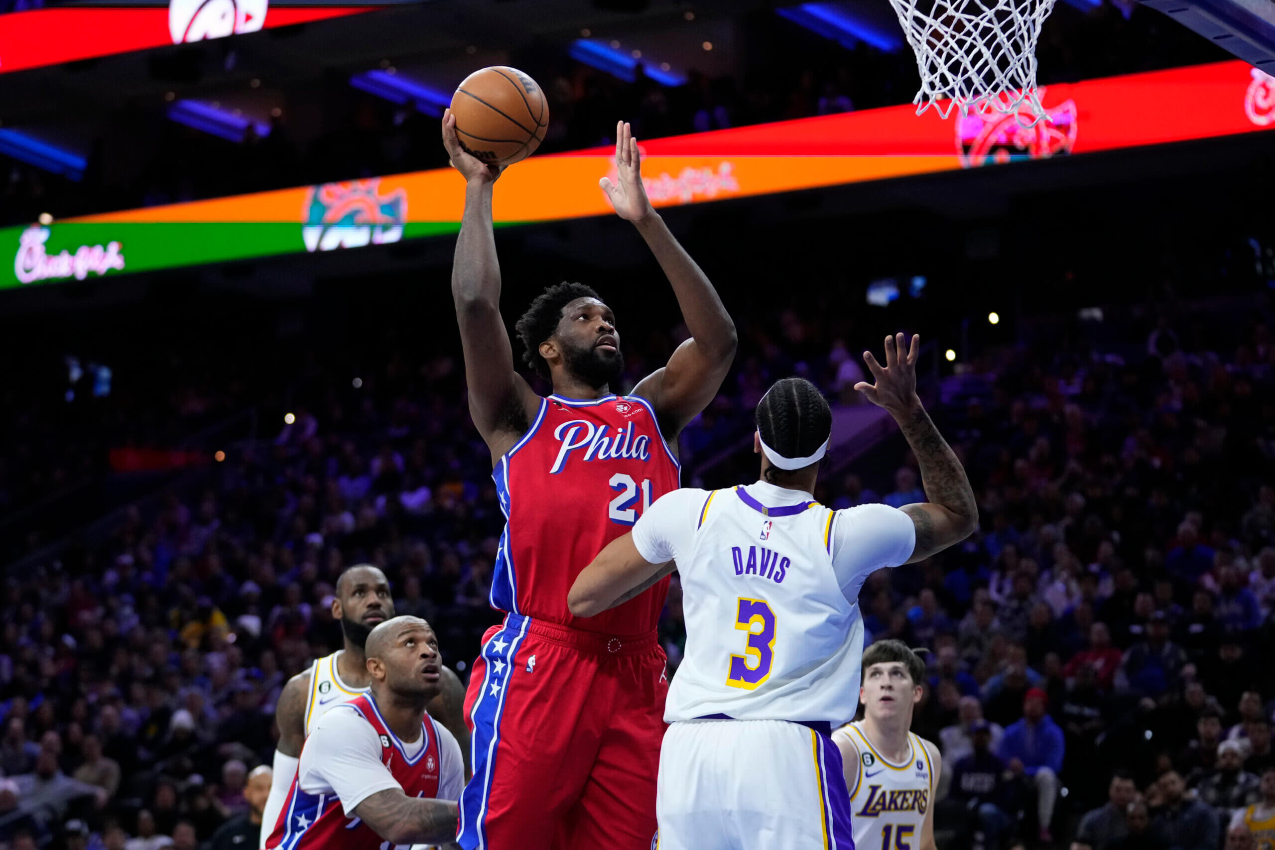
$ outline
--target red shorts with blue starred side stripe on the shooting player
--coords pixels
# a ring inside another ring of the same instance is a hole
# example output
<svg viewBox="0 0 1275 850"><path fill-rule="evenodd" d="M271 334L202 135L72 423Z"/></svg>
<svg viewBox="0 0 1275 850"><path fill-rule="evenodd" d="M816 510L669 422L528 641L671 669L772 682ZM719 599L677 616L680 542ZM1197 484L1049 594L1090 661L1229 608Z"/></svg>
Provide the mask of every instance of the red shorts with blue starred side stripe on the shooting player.
<svg viewBox="0 0 1275 850"><path fill-rule="evenodd" d="M668 693L655 633L611 637L509 614L465 693L464 850L649 850Z"/></svg>

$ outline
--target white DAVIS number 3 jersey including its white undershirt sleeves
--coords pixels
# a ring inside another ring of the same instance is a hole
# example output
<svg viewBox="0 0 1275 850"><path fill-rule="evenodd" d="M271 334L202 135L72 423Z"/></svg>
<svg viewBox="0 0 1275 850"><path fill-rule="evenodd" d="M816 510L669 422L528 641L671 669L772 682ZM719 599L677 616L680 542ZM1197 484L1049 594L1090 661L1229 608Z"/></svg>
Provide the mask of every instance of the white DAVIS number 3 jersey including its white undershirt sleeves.
<svg viewBox="0 0 1275 850"><path fill-rule="evenodd" d="M859 587L914 543L912 517L896 508L831 511L766 482L659 498L634 544L652 563L676 559L682 582L686 652L664 720L850 720Z"/></svg>

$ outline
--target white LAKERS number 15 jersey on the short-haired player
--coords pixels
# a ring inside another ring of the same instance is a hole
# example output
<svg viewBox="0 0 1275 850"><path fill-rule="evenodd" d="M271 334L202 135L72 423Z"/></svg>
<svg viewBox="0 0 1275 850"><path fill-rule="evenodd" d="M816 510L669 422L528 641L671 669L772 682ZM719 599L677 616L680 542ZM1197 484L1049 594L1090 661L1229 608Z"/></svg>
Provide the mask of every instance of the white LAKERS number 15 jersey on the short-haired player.
<svg viewBox="0 0 1275 850"><path fill-rule="evenodd" d="M856 850L915 846L936 781L924 743L909 731L908 758L896 765L872 747L863 721L833 731L834 742L843 737L859 751L859 779L850 795Z"/></svg>

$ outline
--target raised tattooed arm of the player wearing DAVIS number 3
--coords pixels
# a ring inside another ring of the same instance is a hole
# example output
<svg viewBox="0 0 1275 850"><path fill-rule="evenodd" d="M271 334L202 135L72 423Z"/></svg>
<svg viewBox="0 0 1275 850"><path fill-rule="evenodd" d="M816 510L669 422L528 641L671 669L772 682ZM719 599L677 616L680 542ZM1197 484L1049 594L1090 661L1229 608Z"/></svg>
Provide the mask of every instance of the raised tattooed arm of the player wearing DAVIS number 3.
<svg viewBox="0 0 1275 850"><path fill-rule="evenodd" d="M921 464L921 483L929 502L901 508L917 526L917 547L907 563L924 561L960 543L978 528L978 505L965 469L917 396L919 356L919 336L912 336L910 349L904 347L903 334L886 336L884 367L872 352L863 352L863 362L872 371L876 384L859 381L854 385L872 404L885 408L894 417Z"/></svg>

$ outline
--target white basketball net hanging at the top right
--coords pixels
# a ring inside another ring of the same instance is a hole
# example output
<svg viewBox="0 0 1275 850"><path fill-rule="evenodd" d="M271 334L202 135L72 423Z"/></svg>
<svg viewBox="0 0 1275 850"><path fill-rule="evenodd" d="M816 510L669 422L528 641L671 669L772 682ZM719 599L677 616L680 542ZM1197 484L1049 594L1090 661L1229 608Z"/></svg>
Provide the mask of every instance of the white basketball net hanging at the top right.
<svg viewBox="0 0 1275 850"><path fill-rule="evenodd" d="M1037 96L1037 41L1054 0L890 0L917 54L917 115L959 110L1048 120Z"/></svg>

